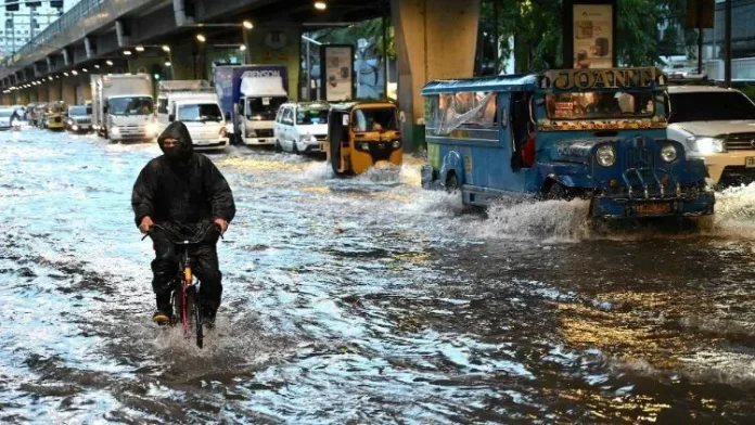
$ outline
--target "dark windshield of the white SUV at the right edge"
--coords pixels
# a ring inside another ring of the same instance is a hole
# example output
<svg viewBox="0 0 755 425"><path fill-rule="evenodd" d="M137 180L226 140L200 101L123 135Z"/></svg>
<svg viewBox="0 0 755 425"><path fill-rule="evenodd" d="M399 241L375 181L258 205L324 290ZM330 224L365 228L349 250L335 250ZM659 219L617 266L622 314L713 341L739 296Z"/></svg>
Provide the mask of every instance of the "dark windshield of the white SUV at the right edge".
<svg viewBox="0 0 755 425"><path fill-rule="evenodd" d="M755 119L755 104L738 91L673 93L669 123Z"/></svg>

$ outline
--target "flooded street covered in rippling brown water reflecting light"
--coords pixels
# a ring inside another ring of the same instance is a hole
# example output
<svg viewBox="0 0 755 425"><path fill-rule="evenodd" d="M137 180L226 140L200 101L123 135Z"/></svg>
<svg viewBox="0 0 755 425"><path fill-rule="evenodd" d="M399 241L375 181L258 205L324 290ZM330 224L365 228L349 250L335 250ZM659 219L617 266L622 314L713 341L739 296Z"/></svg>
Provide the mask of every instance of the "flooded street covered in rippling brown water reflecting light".
<svg viewBox="0 0 755 425"><path fill-rule="evenodd" d="M200 350L150 320L130 195L156 143L0 150L2 423L755 421L755 188L709 234L606 235L579 202L468 214L420 159L337 180L233 147Z"/></svg>

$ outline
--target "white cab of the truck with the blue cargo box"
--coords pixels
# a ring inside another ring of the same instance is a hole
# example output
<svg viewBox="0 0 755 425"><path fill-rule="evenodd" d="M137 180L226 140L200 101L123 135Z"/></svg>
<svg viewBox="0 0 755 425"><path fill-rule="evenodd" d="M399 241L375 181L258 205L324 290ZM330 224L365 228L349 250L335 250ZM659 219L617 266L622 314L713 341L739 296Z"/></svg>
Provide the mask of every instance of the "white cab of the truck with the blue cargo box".
<svg viewBox="0 0 755 425"><path fill-rule="evenodd" d="M280 76L247 72L241 78L241 96L235 105L234 128L246 145L273 145L278 108L289 101Z"/></svg>

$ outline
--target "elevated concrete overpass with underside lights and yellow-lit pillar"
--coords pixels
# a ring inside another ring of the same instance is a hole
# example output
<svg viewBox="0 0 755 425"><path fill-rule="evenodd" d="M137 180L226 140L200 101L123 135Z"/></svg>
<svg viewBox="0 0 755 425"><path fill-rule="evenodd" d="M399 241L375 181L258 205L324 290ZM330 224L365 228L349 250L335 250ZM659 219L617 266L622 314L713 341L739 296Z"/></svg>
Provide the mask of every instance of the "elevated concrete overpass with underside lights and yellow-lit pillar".
<svg viewBox="0 0 755 425"><path fill-rule="evenodd" d="M81 0L0 63L2 101L84 103L93 73L208 79L212 62L238 54L241 44L246 63L285 64L296 99L303 33L380 16L396 31L407 126L423 115L419 91L426 81L472 76L479 0L324 2L323 11L312 0ZM207 41L197 42L199 34Z"/></svg>

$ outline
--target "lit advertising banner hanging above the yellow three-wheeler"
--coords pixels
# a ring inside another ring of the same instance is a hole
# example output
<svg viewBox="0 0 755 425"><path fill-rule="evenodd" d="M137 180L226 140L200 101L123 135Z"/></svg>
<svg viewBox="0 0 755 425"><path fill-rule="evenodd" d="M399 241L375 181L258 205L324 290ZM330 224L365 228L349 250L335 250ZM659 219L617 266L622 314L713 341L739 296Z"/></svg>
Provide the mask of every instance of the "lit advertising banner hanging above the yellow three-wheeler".
<svg viewBox="0 0 755 425"><path fill-rule="evenodd" d="M354 47L322 47L322 90L328 102L344 102L354 99Z"/></svg>

